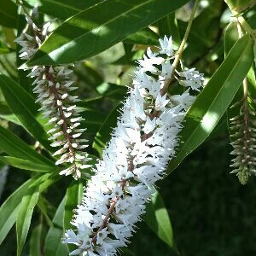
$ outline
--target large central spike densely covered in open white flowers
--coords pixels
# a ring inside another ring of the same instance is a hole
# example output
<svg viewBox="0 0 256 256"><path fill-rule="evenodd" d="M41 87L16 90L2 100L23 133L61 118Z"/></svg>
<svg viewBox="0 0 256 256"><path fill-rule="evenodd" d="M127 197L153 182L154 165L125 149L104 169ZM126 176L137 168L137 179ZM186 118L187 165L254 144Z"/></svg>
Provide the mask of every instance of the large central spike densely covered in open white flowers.
<svg viewBox="0 0 256 256"><path fill-rule="evenodd" d="M75 231L67 230L63 238L78 246L70 255L116 255L141 220L154 183L175 153L184 113L195 100L189 90L201 87L202 74L189 69L175 72L189 87L182 95L161 91L174 78L173 54L172 38L165 37L159 53L148 49L138 61L130 96L73 218Z"/></svg>

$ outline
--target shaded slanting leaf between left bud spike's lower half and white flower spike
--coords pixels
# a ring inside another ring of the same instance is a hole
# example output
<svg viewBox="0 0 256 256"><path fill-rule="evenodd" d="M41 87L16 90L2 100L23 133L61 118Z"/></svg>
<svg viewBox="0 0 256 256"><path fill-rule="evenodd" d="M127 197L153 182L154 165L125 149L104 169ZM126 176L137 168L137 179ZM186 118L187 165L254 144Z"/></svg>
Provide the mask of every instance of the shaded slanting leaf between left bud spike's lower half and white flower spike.
<svg viewBox="0 0 256 256"><path fill-rule="evenodd" d="M92 148L95 148L100 155L102 155L102 148L104 148L106 143L110 140L113 127L116 126L119 108L120 104L116 108L113 108L112 112L108 114L107 119L105 119L102 124L101 129L96 133Z"/></svg>

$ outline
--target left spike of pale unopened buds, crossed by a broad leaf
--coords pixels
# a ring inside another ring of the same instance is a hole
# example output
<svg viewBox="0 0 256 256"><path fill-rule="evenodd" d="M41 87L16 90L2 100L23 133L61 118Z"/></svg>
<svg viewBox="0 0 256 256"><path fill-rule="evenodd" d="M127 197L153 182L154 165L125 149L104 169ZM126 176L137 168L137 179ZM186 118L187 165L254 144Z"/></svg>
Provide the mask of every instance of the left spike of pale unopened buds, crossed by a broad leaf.
<svg viewBox="0 0 256 256"><path fill-rule="evenodd" d="M32 58L49 33L50 22L40 29L32 20L36 15L37 9L33 10L31 16L26 15L26 29L16 39L16 43L21 46L20 58L23 60ZM79 129L83 118L75 105L75 102L79 102L78 96L70 95L70 91L77 89L72 86L71 73L67 67L34 66L28 76L35 78L33 92L38 94L36 102L42 105L39 110L43 111L44 118L49 119L49 140L53 141L51 146L57 148L53 155L61 156L56 165L68 163L68 167L60 174L72 174L79 178L81 169L89 167L86 162L90 159L82 151L87 147L87 140L80 138L85 129Z"/></svg>

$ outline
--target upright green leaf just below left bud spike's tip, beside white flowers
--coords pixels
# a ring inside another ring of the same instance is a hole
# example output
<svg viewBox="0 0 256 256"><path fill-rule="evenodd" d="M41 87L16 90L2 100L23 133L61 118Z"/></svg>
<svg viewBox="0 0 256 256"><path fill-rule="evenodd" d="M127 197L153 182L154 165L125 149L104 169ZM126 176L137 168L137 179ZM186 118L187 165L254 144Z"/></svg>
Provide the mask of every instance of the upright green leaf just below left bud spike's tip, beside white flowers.
<svg viewBox="0 0 256 256"><path fill-rule="evenodd" d="M73 182L67 189L65 210L64 210L64 230L72 228L70 224L73 218L73 209L82 202L83 183L81 181Z"/></svg>

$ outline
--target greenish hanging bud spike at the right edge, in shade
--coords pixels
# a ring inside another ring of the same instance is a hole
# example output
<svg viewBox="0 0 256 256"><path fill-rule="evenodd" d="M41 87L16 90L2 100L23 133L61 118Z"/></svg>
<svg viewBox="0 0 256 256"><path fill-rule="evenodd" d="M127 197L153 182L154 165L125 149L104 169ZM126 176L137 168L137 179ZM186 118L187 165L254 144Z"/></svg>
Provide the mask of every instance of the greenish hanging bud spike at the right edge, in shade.
<svg viewBox="0 0 256 256"><path fill-rule="evenodd" d="M239 105L241 102L237 102ZM234 107L236 107L236 103ZM253 119L255 119L255 110L253 109L252 100L245 96L239 114L230 119L230 135L235 158L232 165L235 169L230 173L236 173L241 184L246 184L249 177L256 175L256 128Z"/></svg>

